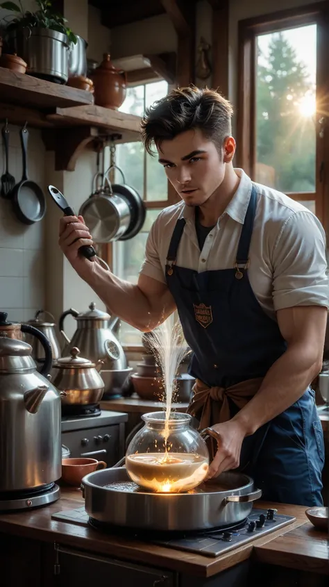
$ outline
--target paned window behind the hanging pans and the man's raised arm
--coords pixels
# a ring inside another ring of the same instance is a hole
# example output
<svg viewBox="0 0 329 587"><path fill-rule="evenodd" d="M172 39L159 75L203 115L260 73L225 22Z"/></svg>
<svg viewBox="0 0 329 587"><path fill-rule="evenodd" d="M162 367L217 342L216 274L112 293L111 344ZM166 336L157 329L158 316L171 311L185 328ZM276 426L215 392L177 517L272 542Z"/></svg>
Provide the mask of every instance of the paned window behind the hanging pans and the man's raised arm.
<svg viewBox="0 0 329 587"><path fill-rule="evenodd" d="M142 116L145 108L151 106L155 100L166 96L167 93L166 81L130 87L120 110ZM116 164L124 172L126 183L139 192L146 206L146 220L142 231L130 240L114 242L112 248L115 274L130 283L137 283L151 225L160 210L171 203L168 200L167 176L157 158L147 154L141 142L119 144ZM116 172L115 181L121 181L118 172ZM120 338L125 345L133 347L141 345L142 334L123 322Z"/></svg>

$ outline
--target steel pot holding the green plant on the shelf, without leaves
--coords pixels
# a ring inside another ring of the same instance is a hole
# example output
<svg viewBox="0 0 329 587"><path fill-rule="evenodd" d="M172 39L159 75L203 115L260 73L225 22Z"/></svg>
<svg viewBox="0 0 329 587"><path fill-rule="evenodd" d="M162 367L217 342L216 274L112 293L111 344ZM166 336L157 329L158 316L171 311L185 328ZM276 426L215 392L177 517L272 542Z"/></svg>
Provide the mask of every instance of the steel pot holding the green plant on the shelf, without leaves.
<svg viewBox="0 0 329 587"><path fill-rule="evenodd" d="M27 74L57 83L69 77L70 42L67 35L49 28L22 28L8 31L11 52L28 64Z"/></svg>

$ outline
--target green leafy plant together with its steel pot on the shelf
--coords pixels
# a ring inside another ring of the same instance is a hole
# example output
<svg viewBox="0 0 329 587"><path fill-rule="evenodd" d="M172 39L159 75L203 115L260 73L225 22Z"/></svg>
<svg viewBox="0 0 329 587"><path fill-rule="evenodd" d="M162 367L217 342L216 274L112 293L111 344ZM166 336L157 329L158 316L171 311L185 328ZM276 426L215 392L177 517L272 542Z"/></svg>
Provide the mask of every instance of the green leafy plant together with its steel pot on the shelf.
<svg viewBox="0 0 329 587"><path fill-rule="evenodd" d="M66 83L69 76L69 51L76 36L67 19L51 8L49 0L35 0L37 10L24 11L22 1L1 2L0 8L13 13L7 24L6 51L17 53L28 64L27 74Z"/></svg>

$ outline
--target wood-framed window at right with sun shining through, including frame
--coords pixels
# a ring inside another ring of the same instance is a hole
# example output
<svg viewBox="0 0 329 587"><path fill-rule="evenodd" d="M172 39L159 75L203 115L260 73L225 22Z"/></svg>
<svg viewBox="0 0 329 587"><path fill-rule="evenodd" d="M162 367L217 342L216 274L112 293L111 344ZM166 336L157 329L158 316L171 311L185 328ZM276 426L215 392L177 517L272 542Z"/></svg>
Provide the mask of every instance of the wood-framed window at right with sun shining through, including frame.
<svg viewBox="0 0 329 587"><path fill-rule="evenodd" d="M254 181L301 201L322 222L328 190L326 11L328 3L319 3L239 23L239 165Z"/></svg>

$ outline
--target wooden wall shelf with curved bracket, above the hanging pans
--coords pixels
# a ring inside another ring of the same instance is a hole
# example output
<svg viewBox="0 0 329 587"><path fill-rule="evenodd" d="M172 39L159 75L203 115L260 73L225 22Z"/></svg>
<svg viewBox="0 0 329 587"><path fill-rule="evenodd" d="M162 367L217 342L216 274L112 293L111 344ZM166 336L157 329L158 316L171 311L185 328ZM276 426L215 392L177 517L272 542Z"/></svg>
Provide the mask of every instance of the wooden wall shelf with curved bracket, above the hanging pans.
<svg viewBox="0 0 329 587"><path fill-rule="evenodd" d="M15 74L3 67L0 100L0 120L27 122L42 129L46 149L55 151L56 171L74 171L81 151L104 138L140 140L140 117L95 106L93 95L85 90Z"/></svg>

